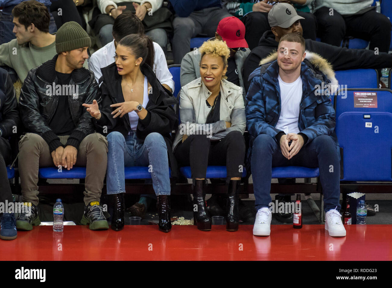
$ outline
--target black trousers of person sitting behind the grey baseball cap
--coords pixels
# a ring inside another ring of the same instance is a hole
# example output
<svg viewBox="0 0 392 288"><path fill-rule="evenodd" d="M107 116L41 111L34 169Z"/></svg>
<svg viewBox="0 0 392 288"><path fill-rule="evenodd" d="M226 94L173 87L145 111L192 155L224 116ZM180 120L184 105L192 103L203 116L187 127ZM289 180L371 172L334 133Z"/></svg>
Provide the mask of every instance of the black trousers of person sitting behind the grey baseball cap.
<svg viewBox="0 0 392 288"><path fill-rule="evenodd" d="M303 30L303 38L316 40L317 22L316 17L312 13L298 11L299 16L305 18L299 20ZM249 49L259 45L261 36L265 31L271 29L268 23L267 12L250 12L241 18L245 24L245 40L249 45Z"/></svg>

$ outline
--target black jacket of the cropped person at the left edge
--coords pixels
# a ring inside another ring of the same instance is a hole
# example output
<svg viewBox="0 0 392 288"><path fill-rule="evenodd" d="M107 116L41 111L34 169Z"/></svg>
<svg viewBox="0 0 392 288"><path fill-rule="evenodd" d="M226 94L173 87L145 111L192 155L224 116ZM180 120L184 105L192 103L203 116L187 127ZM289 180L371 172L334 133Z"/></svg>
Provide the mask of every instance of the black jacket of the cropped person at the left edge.
<svg viewBox="0 0 392 288"><path fill-rule="evenodd" d="M0 68L0 130L1 136L8 138L13 127L19 124L18 103L15 90L8 72Z"/></svg>

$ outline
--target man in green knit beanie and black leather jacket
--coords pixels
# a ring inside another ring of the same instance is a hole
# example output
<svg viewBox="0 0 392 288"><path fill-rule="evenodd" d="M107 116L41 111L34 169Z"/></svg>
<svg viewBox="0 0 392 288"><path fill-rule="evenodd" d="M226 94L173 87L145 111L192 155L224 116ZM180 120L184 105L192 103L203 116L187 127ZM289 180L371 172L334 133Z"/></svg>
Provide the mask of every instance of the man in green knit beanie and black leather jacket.
<svg viewBox="0 0 392 288"><path fill-rule="evenodd" d="M54 172L86 167L81 223L90 224L91 230L109 228L100 205L107 140L94 133L91 116L82 107L83 103L101 101L94 73L83 68L90 45L88 34L78 23L66 22L56 34L58 54L31 69L23 83L20 113L29 133L19 142L19 171L24 205L31 207L31 213L20 214L18 230L31 230L40 224L38 168L53 165ZM28 208L25 211L30 212Z"/></svg>

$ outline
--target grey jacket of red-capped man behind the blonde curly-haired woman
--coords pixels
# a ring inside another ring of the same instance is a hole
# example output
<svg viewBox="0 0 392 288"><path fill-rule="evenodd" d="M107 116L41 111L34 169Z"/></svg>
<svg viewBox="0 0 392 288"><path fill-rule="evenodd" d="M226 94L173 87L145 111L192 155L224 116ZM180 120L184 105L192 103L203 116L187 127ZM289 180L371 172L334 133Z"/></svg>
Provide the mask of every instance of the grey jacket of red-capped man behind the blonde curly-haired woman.
<svg viewBox="0 0 392 288"><path fill-rule="evenodd" d="M215 38L211 38L209 40L214 40ZM245 99L245 85L242 79L242 69L245 62L245 59L248 57L250 53L249 48L245 48L245 51L237 51L235 54L234 60L236 61L238 78L240 80L240 86L242 88L242 96ZM184 58L181 61L181 71L180 71L180 83L181 87L187 85L189 82L195 80L196 78L201 77L200 75L200 61L201 54L198 50L191 51L185 54Z"/></svg>

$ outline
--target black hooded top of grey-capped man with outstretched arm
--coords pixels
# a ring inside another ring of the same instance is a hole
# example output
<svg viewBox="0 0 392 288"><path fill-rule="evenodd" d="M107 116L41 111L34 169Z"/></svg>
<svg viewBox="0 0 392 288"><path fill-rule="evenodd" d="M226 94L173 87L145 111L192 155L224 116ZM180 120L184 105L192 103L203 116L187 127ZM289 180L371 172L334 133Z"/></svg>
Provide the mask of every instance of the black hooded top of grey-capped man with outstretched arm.
<svg viewBox="0 0 392 288"><path fill-rule="evenodd" d="M250 85L250 73L259 67L261 59L278 49L278 44L272 31L266 31L260 38L259 46L250 51L243 66L243 79L246 91L248 91ZM311 39L305 39L305 49L327 59L332 64L334 71L392 67L392 54L388 53L376 55L374 54L375 51L372 50L347 49Z"/></svg>

